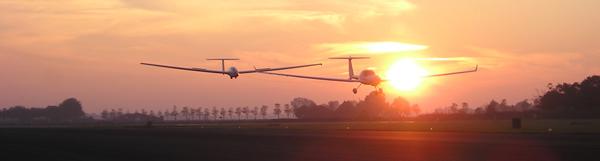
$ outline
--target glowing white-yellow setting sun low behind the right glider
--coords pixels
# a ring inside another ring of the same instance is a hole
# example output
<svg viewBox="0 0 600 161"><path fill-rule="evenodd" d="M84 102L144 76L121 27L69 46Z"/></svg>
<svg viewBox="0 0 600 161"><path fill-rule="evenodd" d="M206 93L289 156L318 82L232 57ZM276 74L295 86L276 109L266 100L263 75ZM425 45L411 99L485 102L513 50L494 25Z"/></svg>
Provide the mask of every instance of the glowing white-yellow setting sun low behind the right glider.
<svg viewBox="0 0 600 161"><path fill-rule="evenodd" d="M392 87L399 91L414 91L429 72L413 59L401 59L392 64L386 78Z"/></svg>

